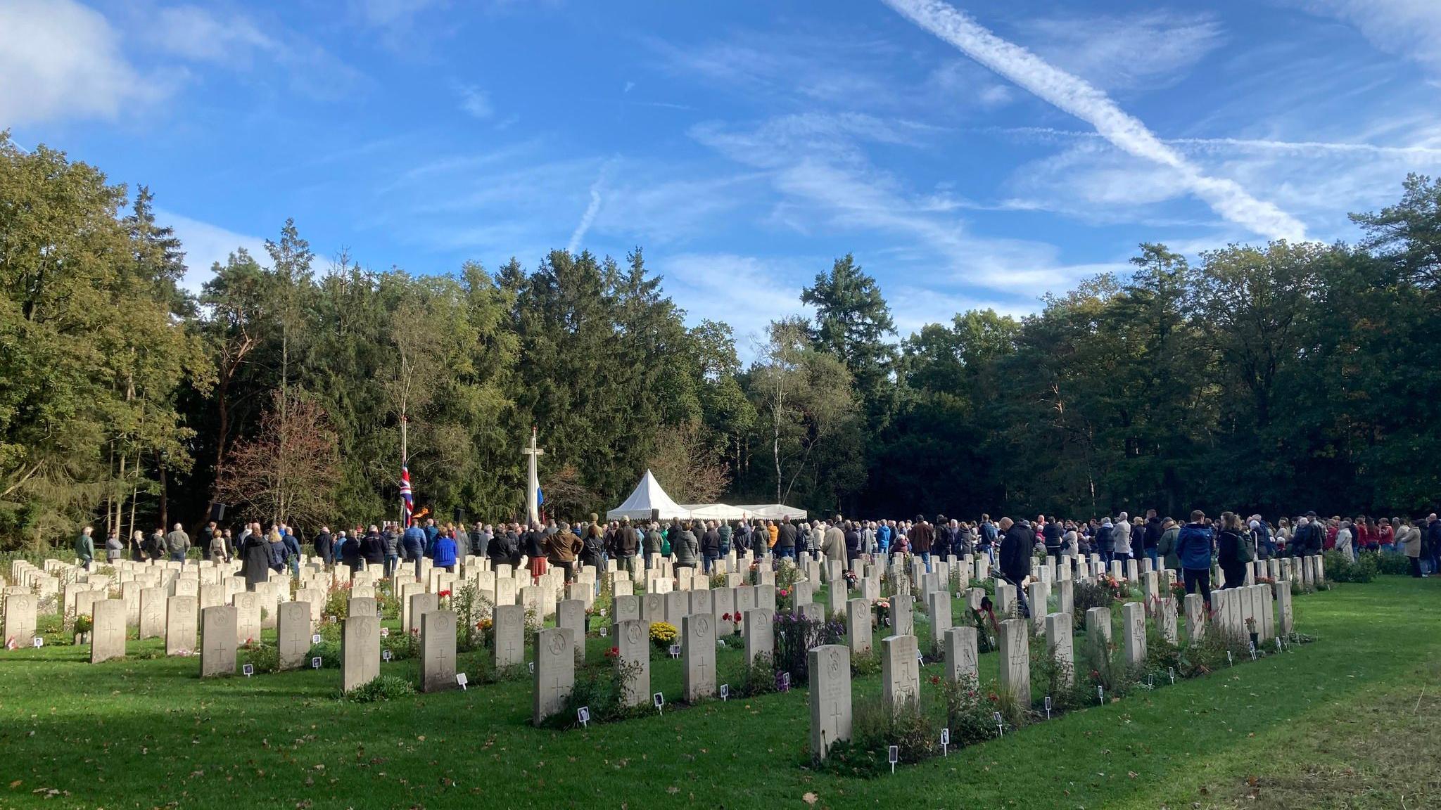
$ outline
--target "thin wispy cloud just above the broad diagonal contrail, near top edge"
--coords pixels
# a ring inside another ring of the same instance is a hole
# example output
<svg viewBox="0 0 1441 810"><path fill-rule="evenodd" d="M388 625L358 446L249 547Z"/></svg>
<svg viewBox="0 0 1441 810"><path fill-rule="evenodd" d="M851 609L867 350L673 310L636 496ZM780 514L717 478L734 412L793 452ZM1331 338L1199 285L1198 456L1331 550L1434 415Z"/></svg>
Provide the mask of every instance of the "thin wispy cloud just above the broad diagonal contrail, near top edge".
<svg viewBox="0 0 1441 810"><path fill-rule="evenodd" d="M1020 30L1050 63L1111 89L1167 84L1223 40L1213 17L1169 12L1042 17Z"/></svg>

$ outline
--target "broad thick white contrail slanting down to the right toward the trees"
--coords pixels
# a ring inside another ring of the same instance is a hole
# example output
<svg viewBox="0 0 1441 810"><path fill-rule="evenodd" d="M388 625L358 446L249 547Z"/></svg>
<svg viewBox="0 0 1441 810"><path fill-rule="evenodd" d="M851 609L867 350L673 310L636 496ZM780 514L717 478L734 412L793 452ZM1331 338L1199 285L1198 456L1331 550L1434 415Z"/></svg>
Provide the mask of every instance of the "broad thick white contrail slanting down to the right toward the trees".
<svg viewBox="0 0 1441 810"><path fill-rule="evenodd" d="M1202 173L1200 167L1166 146L1146 128L1146 124L1127 114L1085 79L1072 76L1030 50L996 36L941 0L883 1L986 68L1087 121L1117 148L1174 169L1192 193L1223 219L1268 239L1306 239L1306 226L1300 221L1272 203L1252 197L1235 180Z"/></svg>

